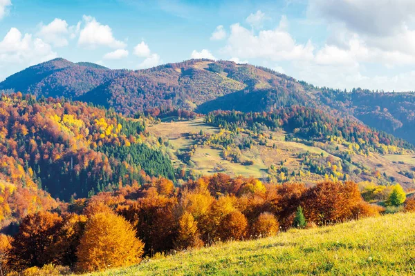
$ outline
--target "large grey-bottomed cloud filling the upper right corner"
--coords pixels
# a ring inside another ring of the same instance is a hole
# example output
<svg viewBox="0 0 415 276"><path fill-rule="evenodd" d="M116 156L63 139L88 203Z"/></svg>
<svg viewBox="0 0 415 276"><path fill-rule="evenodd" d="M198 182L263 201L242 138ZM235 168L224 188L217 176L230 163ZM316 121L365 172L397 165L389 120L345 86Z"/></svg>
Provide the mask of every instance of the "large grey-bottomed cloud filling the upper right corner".
<svg viewBox="0 0 415 276"><path fill-rule="evenodd" d="M341 59L340 63L412 63L414 14L412 0L311 0L308 7L308 16L329 23L329 37L321 55L317 55L319 61L331 56Z"/></svg>

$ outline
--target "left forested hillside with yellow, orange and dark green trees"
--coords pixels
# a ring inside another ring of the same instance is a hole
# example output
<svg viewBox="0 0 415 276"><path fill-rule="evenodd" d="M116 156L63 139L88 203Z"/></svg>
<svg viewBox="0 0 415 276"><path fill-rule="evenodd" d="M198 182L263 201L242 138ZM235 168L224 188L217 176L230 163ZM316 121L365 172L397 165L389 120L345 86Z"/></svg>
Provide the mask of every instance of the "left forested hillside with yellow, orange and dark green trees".
<svg viewBox="0 0 415 276"><path fill-rule="evenodd" d="M146 141L144 121L60 99L20 93L0 99L0 155L5 181L53 197L86 197L134 182L142 172L174 179L167 155ZM0 178L1 179L1 178ZM30 181L30 182L29 182Z"/></svg>

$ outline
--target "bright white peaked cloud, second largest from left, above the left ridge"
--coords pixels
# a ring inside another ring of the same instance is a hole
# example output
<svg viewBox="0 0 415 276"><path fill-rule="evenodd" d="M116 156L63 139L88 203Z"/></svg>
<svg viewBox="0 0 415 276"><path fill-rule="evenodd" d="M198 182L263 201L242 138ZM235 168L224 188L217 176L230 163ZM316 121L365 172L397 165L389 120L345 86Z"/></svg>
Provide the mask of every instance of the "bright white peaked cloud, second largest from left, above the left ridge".
<svg viewBox="0 0 415 276"><path fill-rule="evenodd" d="M113 32L108 25L102 25L94 17L87 17L86 15L84 15L83 20L85 26L80 30L78 45L89 48L108 46L110 48L122 49L127 47L126 43L113 37Z"/></svg>

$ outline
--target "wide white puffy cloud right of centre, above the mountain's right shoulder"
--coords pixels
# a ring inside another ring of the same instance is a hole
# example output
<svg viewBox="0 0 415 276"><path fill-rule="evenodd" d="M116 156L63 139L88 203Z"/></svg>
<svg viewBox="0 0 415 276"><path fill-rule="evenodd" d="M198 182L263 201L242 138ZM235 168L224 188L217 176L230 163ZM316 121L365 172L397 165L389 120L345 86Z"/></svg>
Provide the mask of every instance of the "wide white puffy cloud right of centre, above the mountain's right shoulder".
<svg viewBox="0 0 415 276"><path fill-rule="evenodd" d="M299 44L282 28L261 30L259 34L242 27L239 23L230 26L228 43L222 52L242 59L264 58L273 61L313 59L314 46L311 41Z"/></svg>

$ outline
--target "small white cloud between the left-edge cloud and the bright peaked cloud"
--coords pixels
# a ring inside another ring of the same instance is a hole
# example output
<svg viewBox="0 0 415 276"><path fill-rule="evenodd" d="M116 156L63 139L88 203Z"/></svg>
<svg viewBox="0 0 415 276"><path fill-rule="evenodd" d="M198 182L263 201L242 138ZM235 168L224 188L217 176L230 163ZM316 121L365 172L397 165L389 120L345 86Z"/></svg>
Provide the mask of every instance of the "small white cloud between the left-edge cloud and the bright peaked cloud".
<svg viewBox="0 0 415 276"><path fill-rule="evenodd" d="M43 41L53 44L56 47L63 47L68 45L66 36L69 34L68 23L65 20L55 18L48 25L40 23L40 30L37 33Z"/></svg>

